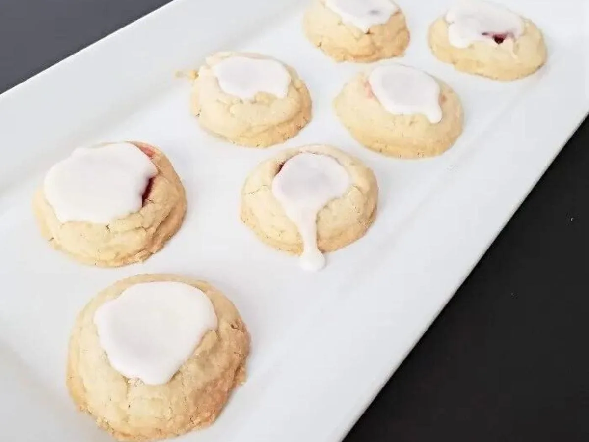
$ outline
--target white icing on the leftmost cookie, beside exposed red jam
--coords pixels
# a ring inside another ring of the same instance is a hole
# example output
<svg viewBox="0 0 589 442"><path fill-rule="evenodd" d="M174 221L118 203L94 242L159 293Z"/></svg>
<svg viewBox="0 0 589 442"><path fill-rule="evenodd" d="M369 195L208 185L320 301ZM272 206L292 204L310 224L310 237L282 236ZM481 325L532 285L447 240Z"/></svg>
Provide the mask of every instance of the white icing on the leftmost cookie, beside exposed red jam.
<svg viewBox="0 0 589 442"><path fill-rule="evenodd" d="M45 176L44 194L60 222L108 224L137 212L157 169L130 143L81 148Z"/></svg>

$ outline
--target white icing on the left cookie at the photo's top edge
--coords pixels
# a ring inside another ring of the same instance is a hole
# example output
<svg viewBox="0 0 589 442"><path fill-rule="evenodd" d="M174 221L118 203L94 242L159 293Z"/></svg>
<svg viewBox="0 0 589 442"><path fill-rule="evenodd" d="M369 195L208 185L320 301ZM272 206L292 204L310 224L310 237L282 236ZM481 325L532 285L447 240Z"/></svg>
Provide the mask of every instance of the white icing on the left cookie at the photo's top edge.
<svg viewBox="0 0 589 442"><path fill-rule="evenodd" d="M345 24L353 25L365 34L371 27L388 22L399 11L390 0L326 0L325 5Z"/></svg>

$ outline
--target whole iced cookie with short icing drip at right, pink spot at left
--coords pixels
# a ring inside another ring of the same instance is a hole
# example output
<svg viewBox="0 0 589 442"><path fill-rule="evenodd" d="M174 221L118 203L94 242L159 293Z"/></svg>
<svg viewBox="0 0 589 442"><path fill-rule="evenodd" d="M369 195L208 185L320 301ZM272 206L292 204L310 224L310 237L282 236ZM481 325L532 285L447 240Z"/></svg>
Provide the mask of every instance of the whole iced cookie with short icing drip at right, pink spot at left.
<svg viewBox="0 0 589 442"><path fill-rule="evenodd" d="M333 104L359 143L393 157L442 154L462 133L458 95L444 82L403 65L360 72Z"/></svg>

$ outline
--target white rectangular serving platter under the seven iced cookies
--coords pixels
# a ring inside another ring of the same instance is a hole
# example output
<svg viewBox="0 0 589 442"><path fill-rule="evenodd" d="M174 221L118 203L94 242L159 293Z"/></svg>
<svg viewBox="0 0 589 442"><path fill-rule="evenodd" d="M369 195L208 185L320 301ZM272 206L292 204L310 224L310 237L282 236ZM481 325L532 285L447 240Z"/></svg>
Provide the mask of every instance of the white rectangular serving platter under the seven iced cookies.
<svg viewBox="0 0 589 442"><path fill-rule="evenodd" d="M401 61L461 97L464 135L436 159L380 156L332 112L365 65L335 64L303 37L294 0L176 0L0 96L0 403L5 440L108 441L65 390L75 315L136 273L206 279L231 298L252 335L249 377L216 424L191 442L341 440L497 236L589 110L583 0L503 0L544 31L550 60L522 81L455 72L426 44L446 1L398 0L412 42ZM327 143L360 157L380 186L368 235L305 273L296 258L241 225L241 184L284 146L253 150L203 133L187 80L217 50L262 52L292 65L313 120L286 146ZM42 173L75 147L142 140L160 147L187 189L180 232L147 262L78 265L41 239L31 212Z"/></svg>

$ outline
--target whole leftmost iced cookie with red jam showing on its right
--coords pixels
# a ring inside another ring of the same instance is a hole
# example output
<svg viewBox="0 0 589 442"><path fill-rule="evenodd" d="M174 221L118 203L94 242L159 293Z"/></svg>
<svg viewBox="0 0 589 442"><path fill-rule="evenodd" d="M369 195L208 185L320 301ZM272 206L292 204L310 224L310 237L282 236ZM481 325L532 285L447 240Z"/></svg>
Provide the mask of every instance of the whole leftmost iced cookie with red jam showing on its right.
<svg viewBox="0 0 589 442"><path fill-rule="evenodd" d="M33 208L55 249L84 264L117 267L163 248L180 229L186 196L160 150L110 143L75 150L52 167Z"/></svg>

